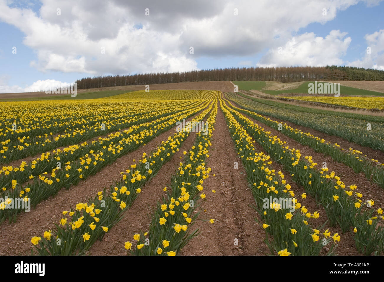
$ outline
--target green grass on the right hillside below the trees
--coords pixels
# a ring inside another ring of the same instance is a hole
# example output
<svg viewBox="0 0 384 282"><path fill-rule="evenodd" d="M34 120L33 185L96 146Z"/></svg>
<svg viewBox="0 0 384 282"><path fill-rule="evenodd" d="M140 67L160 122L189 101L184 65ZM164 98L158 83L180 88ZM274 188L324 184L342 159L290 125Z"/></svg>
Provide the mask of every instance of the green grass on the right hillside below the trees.
<svg viewBox="0 0 384 282"><path fill-rule="evenodd" d="M232 81L234 84L238 85L240 90L250 90L255 89L263 93L270 95L280 95L284 93L304 93L308 94L308 84L314 83L314 81L305 81L299 87L295 89L286 89L286 90L263 90L263 87L266 86L265 81ZM340 86L340 96L382 96L384 93L369 91L364 89L358 89L348 86Z"/></svg>

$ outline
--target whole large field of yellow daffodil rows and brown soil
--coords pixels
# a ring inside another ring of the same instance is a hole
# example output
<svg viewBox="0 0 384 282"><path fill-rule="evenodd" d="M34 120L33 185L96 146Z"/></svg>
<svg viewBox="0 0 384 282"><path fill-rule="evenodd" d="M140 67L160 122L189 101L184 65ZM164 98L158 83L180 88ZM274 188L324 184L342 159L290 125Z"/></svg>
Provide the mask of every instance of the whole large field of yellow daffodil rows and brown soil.
<svg viewBox="0 0 384 282"><path fill-rule="evenodd" d="M1 102L0 255L384 254L384 117L194 83Z"/></svg>

